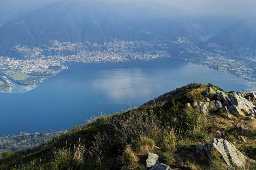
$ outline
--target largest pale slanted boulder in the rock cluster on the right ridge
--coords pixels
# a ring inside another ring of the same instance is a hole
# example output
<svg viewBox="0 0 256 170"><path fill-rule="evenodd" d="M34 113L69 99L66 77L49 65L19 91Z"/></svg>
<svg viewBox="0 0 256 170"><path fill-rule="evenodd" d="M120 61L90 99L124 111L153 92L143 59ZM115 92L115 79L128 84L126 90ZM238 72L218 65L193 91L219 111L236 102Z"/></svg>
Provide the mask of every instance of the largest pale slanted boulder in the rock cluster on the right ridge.
<svg viewBox="0 0 256 170"><path fill-rule="evenodd" d="M253 105L250 101L246 100L244 97L241 97L236 94L236 92L232 92L228 94L230 99L230 104L237 106L240 110L244 109L246 112L250 113L255 105ZM251 110L251 111L250 111Z"/></svg>

